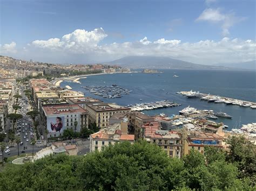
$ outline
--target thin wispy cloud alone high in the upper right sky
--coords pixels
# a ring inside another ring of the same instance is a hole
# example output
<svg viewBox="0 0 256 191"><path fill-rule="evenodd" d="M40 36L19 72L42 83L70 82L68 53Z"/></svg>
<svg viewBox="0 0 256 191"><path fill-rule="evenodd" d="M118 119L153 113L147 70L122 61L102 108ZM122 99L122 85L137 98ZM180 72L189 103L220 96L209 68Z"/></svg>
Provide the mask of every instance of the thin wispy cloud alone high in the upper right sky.
<svg viewBox="0 0 256 191"><path fill-rule="evenodd" d="M230 27L232 27L236 23L241 22L244 19L244 17L236 17L233 12L221 13L221 10L219 8L208 8L201 13L201 15L196 19L196 21L220 23L223 36L228 36L228 34L230 34Z"/></svg>

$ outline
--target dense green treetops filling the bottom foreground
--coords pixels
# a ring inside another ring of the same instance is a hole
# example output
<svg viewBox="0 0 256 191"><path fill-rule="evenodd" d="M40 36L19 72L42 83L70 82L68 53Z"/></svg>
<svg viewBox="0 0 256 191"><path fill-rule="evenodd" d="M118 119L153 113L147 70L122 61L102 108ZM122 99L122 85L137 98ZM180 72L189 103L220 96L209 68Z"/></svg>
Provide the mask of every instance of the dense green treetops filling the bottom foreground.
<svg viewBox="0 0 256 191"><path fill-rule="evenodd" d="M146 142L110 145L86 156L50 155L0 174L0 190L253 190L225 153L206 148L182 160ZM212 153L212 155L210 154Z"/></svg>

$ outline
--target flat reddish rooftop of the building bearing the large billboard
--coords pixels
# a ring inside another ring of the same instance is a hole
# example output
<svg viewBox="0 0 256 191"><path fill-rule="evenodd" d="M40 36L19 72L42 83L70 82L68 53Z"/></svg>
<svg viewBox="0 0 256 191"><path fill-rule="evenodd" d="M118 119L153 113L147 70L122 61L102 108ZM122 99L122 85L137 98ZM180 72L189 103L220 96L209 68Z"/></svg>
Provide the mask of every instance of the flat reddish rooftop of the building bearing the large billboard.
<svg viewBox="0 0 256 191"><path fill-rule="evenodd" d="M72 114L72 113L87 113L85 109L77 104L66 104L66 105L50 105L43 106L43 111L46 116L53 114Z"/></svg>

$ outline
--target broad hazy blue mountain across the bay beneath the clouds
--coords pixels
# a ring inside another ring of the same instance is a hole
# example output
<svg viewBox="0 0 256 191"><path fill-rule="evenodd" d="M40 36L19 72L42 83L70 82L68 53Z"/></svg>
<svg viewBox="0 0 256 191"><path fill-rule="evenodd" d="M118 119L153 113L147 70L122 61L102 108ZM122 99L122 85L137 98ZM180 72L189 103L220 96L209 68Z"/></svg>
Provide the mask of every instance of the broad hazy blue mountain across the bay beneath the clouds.
<svg viewBox="0 0 256 191"><path fill-rule="evenodd" d="M105 62L104 64L119 65L129 68L225 69L225 67L221 66L199 65L197 63L172 59L165 56L126 56L118 60Z"/></svg>

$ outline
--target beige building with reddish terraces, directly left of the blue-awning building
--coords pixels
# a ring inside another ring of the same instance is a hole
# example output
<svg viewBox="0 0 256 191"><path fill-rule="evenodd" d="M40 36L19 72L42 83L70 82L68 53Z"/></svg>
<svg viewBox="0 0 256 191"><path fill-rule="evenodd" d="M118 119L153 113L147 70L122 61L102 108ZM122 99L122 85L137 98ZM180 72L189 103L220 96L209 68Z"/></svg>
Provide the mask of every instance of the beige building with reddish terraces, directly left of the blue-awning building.
<svg viewBox="0 0 256 191"><path fill-rule="evenodd" d="M157 144L169 157L180 158L181 136L176 131L160 130L159 122L150 122L142 126L143 138L150 143Z"/></svg>

